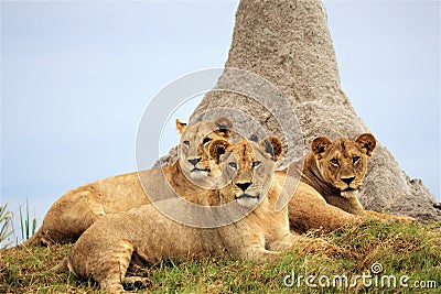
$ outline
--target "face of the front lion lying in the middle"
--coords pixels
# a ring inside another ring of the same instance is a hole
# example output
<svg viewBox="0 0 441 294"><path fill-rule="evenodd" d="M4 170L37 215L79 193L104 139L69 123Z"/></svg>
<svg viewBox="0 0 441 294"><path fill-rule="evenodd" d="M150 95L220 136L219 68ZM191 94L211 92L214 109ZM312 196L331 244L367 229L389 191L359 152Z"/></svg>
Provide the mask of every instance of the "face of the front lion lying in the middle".
<svg viewBox="0 0 441 294"><path fill-rule="evenodd" d="M260 143L241 140L230 144L216 140L209 152L220 166L227 185L222 188L224 203L236 200L245 207L254 207L266 196L273 176L276 161L282 151L282 143L269 137Z"/></svg>

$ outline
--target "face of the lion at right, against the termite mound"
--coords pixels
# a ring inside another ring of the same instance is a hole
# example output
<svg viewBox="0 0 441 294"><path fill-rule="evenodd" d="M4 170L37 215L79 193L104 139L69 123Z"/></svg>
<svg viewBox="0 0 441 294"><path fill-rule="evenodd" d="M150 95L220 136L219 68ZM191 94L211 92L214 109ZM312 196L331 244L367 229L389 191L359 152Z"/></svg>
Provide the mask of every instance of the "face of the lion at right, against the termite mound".
<svg viewBox="0 0 441 294"><path fill-rule="evenodd" d="M369 133L361 134L355 140L338 139L333 142L320 137L311 143L323 179L338 188L344 197L358 190L375 146L376 140Z"/></svg>

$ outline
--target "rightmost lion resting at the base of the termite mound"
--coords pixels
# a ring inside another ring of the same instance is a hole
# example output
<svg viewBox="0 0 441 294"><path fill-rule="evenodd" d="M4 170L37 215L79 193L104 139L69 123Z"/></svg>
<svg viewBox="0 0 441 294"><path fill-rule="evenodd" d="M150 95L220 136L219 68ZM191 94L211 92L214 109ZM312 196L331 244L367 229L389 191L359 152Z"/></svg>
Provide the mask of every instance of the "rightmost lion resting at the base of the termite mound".
<svg viewBox="0 0 441 294"><path fill-rule="evenodd" d="M359 134L355 140L331 141L320 137L312 141L312 152L303 159L300 183L289 203L289 219L293 230L335 230L366 218L402 222L413 220L365 210L358 200L358 189L376 144L370 133ZM290 168L295 173L298 163Z"/></svg>

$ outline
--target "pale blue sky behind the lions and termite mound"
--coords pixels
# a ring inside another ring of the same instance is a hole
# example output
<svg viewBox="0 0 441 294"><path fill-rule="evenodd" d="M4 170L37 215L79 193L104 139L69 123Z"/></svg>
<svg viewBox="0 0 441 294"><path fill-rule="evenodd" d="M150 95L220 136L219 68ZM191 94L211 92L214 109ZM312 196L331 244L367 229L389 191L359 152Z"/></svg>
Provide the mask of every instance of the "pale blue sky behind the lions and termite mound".
<svg viewBox="0 0 441 294"><path fill-rule="evenodd" d="M17 211L28 197L41 222L65 192L135 171L150 99L182 75L224 65L237 3L2 1L1 203ZM440 199L440 2L325 8L343 89ZM173 130L165 137L178 142Z"/></svg>

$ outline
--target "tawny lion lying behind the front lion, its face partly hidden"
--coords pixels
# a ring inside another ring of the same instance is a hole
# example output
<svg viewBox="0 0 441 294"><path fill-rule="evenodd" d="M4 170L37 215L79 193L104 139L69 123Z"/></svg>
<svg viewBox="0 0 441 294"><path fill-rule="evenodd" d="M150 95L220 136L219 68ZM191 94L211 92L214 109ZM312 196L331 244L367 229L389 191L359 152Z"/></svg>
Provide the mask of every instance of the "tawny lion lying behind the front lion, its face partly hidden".
<svg viewBox="0 0 441 294"><path fill-rule="evenodd" d="M208 156L208 143L216 139L227 139L232 127L233 123L227 118L192 126L176 120L176 129L181 135L179 161L162 170L152 168L117 175L67 192L52 205L40 229L22 246L74 242L104 215L149 204L150 199L144 193L143 184L155 183L160 177L159 174L166 174L172 185L185 183L190 186L200 184L204 176L216 176L219 170ZM185 177L183 174L195 183L182 179ZM143 183L140 182L140 176ZM157 185L169 185L169 183L157 183Z"/></svg>

